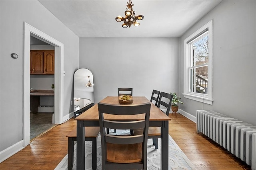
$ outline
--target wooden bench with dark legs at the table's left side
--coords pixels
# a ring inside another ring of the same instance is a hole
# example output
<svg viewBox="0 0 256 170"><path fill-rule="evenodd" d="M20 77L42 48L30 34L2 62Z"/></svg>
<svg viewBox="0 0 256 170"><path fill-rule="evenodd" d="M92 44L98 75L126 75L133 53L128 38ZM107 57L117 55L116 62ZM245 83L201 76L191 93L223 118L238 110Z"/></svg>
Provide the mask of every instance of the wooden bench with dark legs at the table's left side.
<svg viewBox="0 0 256 170"><path fill-rule="evenodd" d="M100 127L85 127L85 141L92 141L92 169L97 169L97 138L100 134ZM76 128L68 135L68 170L73 168L74 164L74 141L76 141Z"/></svg>

